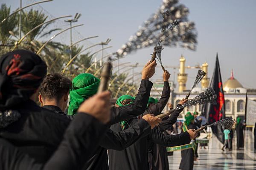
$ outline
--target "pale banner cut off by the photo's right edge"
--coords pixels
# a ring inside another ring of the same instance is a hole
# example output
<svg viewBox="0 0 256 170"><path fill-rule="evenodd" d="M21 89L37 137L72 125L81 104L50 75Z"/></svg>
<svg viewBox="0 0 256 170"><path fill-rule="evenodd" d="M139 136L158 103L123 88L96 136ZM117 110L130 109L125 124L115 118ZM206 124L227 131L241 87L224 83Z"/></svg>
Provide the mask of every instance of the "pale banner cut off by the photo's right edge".
<svg viewBox="0 0 256 170"><path fill-rule="evenodd" d="M247 99L246 108L246 125L255 125L256 122L256 102L254 100Z"/></svg>

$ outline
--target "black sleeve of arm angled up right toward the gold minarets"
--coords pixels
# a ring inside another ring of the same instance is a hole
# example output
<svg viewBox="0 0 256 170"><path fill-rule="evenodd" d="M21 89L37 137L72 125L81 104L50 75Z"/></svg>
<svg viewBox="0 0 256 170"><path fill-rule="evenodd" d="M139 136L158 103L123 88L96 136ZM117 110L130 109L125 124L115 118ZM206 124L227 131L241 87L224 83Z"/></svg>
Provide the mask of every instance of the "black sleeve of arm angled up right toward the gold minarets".
<svg viewBox="0 0 256 170"><path fill-rule="evenodd" d="M181 106L180 104L177 105L177 107ZM166 129L168 129L169 127L171 127L172 125L175 124L175 122L177 122L177 118L180 115L180 112L183 111L182 109L179 109L175 112L173 112L169 117L167 117L167 120L163 120L160 124L159 124L159 130L161 132L165 131Z"/></svg>

